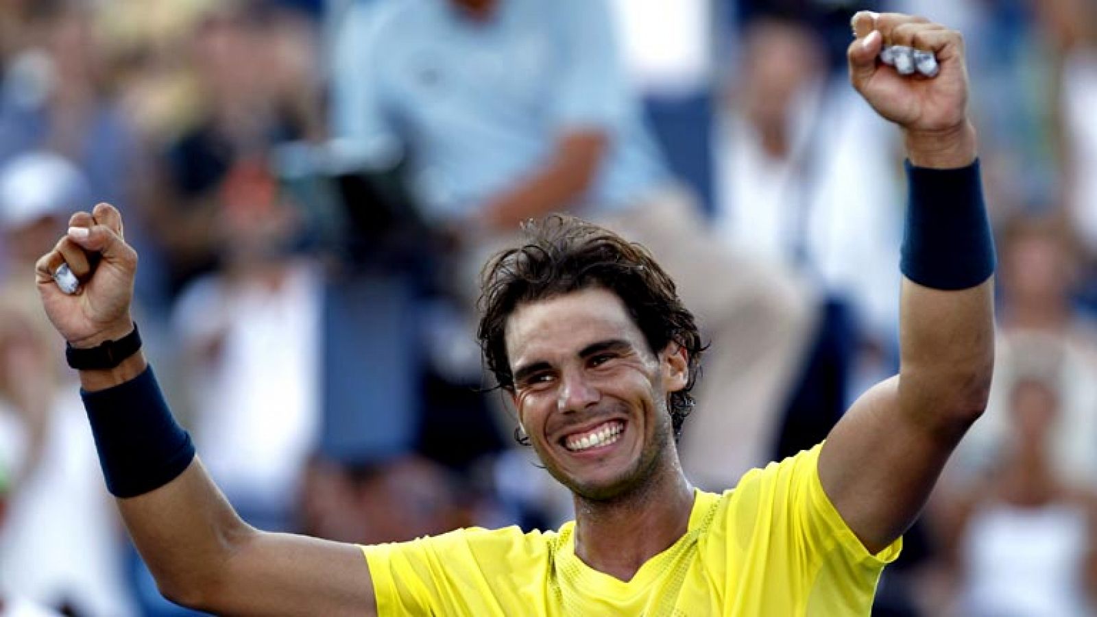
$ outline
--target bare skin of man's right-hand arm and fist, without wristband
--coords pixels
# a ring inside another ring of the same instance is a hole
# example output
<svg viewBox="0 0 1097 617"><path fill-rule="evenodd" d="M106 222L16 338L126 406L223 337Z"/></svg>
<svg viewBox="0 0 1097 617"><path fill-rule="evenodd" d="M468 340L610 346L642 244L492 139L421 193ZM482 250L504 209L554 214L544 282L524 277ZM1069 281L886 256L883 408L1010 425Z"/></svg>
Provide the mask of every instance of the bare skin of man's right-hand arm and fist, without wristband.
<svg viewBox="0 0 1097 617"><path fill-rule="evenodd" d="M904 132L917 167L953 169L975 160L966 115L968 77L959 33L884 13L855 18L850 79ZM934 50L935 79L906 79L877 62L882 45ZM864 547L877 552L920 513L945 462L982 414L994 363L993 278L957 292L903 279L900 373L866 392L819 455L823 489Z"/></svg>

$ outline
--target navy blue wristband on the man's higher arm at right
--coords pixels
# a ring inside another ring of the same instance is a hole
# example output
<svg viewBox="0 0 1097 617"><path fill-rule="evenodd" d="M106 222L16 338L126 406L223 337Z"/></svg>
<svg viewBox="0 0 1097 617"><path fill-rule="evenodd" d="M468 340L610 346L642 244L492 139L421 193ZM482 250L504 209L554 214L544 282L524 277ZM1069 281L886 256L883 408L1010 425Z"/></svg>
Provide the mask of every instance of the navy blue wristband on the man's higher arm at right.
<svg viewBox="0 0 1097 617"><path fill-rule="evenodd" d="M906 162L909 194L901 270L935 289L968 289L994 274L994 235L976 160L959 169Z"/></svg>

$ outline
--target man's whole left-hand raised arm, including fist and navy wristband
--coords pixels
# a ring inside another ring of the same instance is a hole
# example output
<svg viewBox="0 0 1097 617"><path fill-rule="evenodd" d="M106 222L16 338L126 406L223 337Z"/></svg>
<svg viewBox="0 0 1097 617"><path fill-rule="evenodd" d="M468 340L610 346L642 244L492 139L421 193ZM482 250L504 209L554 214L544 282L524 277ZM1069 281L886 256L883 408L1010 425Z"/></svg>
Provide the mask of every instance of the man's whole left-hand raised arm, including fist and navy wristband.
<svg viewBox="0 0 1097 617"><path fill-rule="evenodd" d="M109 205L77 213L69 225L36 267L43 306L73 347L117 341L133 330L137 254ZM53 281L63 262L83 282L76 295ZM81 370L80 381L108 485L160 592L217 615L375 614L358 547L268 534L237 516L148 370L137 351L113 368Z"/></svg>

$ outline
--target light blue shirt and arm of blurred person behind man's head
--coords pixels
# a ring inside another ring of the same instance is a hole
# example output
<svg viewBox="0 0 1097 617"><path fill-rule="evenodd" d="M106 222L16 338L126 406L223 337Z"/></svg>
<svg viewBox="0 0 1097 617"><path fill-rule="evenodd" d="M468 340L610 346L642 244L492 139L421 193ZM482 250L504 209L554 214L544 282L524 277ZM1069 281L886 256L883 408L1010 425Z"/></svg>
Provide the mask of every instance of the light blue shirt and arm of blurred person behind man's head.
<svg viewBox="0 0 1097 617"><path fill-rule="evenodd" d="M671 183L601 1L381 0L344 28L336 133L406 148L430 218L506 228Z"/></svg>

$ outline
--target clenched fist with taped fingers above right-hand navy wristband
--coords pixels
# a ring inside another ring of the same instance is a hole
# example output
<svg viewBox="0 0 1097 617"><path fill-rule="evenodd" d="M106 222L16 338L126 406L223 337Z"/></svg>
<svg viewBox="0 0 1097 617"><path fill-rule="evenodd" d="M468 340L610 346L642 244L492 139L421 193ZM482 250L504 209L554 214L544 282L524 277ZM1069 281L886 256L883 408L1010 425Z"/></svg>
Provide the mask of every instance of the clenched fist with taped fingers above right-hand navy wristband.
<svg viewBox="0 0 1097 617"><path fill-rule="evenodd" d="M975 159L968 117L968 69L959 32L921 18L861 11L853 16L849 79L872 108L904 130L911 161L920 167L962 167ZM879 59L885 45L937 56L932 78L902 76Z"/></svg>

